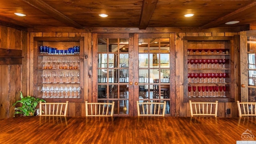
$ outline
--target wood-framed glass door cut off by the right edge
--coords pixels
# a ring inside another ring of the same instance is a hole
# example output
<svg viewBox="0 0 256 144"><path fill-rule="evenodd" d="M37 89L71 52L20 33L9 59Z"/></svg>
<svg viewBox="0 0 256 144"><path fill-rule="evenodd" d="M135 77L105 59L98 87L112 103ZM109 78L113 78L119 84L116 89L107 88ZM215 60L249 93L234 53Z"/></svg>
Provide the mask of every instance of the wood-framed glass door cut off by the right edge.
<svg viewBox="0 0 256 144"><path fill-rule="evenodd" d="M256 102L256 30L240 32L241 100Z"/></svg>

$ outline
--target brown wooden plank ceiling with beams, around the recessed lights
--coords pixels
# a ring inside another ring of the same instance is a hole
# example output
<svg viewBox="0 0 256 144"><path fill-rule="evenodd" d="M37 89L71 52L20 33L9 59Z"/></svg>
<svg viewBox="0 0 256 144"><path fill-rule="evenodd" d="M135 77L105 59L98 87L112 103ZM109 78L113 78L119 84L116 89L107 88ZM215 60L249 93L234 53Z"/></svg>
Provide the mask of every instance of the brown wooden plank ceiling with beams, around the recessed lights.
<svg viewBox="0 0 256 144"><path fill-rule="evenodd" d="M255 0L0 0L0 24L22 28L216 28L256 23ZM14 12L27 16L19 17ZM98 16L106 13L107 18ZM184 14L194 13L190 18Z"/></svg>

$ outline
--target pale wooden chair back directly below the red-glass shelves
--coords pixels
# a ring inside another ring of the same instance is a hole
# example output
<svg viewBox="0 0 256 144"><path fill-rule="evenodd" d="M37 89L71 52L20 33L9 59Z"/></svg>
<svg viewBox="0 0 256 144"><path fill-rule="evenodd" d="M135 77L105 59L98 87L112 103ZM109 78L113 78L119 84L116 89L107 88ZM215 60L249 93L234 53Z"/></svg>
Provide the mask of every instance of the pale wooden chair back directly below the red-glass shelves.
<svg viewBox="0 0 256 144"><path fill-rule="evenodd" d="M218 101L213 102L192 102L189 101L190 114L193 116L214 116L218 114ZM193 108L194 105L194 108ZM215 106L215 108L214 108Z"/></svg>

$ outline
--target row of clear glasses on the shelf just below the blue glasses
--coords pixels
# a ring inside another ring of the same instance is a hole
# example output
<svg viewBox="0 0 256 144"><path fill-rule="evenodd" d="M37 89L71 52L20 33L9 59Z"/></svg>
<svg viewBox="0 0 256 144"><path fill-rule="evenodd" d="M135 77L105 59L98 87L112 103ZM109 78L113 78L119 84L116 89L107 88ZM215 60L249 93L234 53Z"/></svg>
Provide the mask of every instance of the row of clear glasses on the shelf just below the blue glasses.
<svg viewBox="0 0 256 144"><path fill-rule="evenodd" d="M40 62L42 69L80 69L80 58L48 57Z"/></svg>

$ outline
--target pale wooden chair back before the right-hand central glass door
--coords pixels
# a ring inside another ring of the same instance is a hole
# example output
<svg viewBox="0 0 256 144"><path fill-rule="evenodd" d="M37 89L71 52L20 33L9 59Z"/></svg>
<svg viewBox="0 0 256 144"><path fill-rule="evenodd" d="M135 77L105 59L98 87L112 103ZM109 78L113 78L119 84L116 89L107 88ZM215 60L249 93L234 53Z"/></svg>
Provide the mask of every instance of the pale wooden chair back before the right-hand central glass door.
<svg viewBox="0 0 256 144"><path fill-rule="evenodd" d="M166 101L158 102L139 102L137 101L138 116L164 116Z"/></svg>

